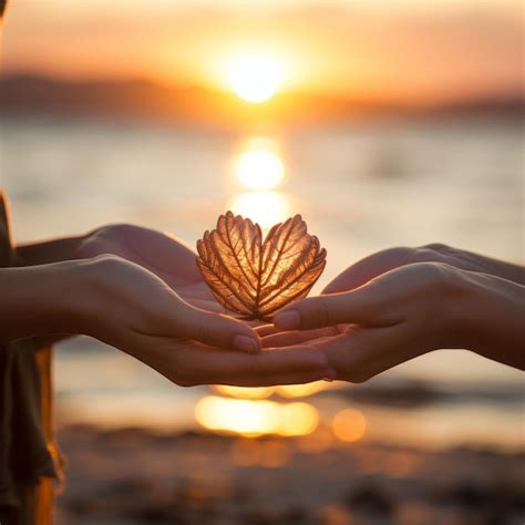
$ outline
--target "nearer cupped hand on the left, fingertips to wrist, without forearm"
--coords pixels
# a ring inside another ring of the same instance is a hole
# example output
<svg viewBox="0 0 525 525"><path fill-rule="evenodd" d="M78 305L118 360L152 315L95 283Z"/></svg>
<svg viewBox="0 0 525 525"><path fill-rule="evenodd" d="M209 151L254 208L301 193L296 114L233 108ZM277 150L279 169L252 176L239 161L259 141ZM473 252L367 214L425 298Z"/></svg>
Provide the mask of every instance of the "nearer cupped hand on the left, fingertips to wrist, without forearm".
<svg viewBox="0 0 525 525"><path fill-rule="evenodd" d="M84 294L74 301L75 331L134 356L177 384L289 384L332 373L313 347L258 351L249 326L188 305L137 264L101 256L80 265Z"/></svg>

